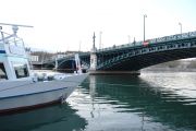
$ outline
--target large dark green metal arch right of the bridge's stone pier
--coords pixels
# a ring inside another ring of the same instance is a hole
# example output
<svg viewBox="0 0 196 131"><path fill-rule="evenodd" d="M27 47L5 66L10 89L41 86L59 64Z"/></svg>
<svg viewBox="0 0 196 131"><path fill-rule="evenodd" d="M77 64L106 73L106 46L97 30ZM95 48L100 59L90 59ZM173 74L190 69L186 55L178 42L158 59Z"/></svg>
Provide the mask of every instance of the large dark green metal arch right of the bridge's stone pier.
<svg viewBox="0 0 196 131"><path fill-rule="evenodd" d="M137 46L100 62L97 70L137 71L162 62L196 57L196 38Z"/></svg>

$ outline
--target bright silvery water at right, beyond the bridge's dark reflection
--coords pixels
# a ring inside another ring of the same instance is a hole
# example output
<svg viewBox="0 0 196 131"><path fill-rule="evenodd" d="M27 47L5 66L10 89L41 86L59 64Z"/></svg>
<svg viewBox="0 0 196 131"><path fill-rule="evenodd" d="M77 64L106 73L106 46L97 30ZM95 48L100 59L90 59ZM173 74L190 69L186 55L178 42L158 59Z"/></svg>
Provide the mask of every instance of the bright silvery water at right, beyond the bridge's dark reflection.
<svg viewBox="0 0 196 131"><path fill-rule="evenodd" d="M140 78L152 87L162 87L162 92L170 90L184 97L196 97L196 73L194 72L144 73Z"/></svg>

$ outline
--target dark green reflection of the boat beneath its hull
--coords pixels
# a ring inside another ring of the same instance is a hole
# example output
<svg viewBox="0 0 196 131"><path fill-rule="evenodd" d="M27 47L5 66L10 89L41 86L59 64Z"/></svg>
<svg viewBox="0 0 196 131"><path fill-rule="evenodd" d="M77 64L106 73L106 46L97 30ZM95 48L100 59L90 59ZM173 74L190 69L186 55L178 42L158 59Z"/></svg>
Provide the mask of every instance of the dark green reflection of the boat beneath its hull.
<svg viewBox="0 0 196 131"><path fill-rule="evenodd" d="M0 117L0 131L73 131L83 130L86 120L70 105L54 105L27 112Z"/></svg>

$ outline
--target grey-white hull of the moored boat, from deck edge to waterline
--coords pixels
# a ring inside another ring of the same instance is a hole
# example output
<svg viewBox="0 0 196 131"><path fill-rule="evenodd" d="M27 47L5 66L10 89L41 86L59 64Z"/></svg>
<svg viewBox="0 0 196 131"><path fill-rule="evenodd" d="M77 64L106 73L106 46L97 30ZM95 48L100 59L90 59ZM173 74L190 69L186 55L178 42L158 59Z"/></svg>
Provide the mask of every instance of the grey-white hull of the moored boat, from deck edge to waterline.
<svg viewBox="0 0 196 131"><path fill-rule="evenodd" d="M20 82L19 86L13 86L16 82L1 84L10 86L0 90L0 114L63 103L85 78L82 74L61 81Z"/></svg>

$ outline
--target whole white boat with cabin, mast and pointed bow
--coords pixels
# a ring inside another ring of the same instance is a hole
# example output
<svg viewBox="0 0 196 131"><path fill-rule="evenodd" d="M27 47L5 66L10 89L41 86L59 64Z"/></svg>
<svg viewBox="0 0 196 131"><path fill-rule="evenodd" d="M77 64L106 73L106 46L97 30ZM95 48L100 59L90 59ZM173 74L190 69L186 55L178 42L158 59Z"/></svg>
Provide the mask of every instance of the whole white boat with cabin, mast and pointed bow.
<svg viewBox="0 0 196 131"><path fill-rule="evenodd" d="M53 74L53 79L45 75L38 81L29 69L23 39L16 36L19 27L30 26L11 25L11 35L2 32L0 26L0 114L64 102L87 74L77 71L69 75ZM76 63L78 61L77 57Z"/></svg>

